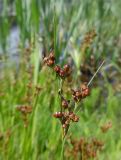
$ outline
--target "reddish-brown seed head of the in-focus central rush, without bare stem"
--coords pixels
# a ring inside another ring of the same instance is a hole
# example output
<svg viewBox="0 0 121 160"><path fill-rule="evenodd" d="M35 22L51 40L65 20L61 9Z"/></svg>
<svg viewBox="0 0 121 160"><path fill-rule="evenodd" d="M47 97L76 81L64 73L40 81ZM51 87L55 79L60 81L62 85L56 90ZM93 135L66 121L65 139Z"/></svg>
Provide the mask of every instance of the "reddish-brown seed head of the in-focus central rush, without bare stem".
<svg viewBox="0 0 121 160"><path fill-rule="evenodd" d="M68 64L65 64L62 68L59 65L55 64L54 52L50 52L49 56L44 58L44 63L47 66L51 67L56 73L57 77L60 77L62 81L64 81L65 78L71 75L72 69ZM71 95L73 97L72 101L74 102L74 108L75 102L81 101L83 98L87 97L89 93L90 91L86 83L81 85L80 89L78 90L72 89ZM59 89L59 97L61 102L60 111L54 113L53 116L60 120L63 129L63 136L65 136L68 132L71 122L78 122L79 117L74 113L74 108L72 108L70 100L67 100L63 96L62 86L60 86Z"/></svg>

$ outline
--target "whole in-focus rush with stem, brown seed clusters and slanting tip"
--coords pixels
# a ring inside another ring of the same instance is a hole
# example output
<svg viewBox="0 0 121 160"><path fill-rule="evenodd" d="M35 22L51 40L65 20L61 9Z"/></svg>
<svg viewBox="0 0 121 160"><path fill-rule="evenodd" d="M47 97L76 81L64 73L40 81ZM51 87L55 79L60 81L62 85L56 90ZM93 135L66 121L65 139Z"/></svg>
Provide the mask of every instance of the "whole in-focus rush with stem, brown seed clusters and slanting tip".
<svg viewBox="0 0 121 160"><path fill-rule="evenodd" d="M64 158L63 149L65 143L65 137L69 131L71 123L78 122L79 116L77 112L80 110L80 102L90 95L89 85L96 76L99 69L104 64L101 63L91 80L87 83L81 84L77 89L69 88L68 95L64 93L64 83L67 78L71 77L72 68L69 64L65 64L63 67L56 64L56 57L54 51L51 51L48 56L44 57L44 64L50 67L56 74L57 80L59 80L58 96L60 99L59 110L53 114L54 118L59 119L62 128L62 152L61 159ZM69 99L67 98L69 97Z"/></svg>

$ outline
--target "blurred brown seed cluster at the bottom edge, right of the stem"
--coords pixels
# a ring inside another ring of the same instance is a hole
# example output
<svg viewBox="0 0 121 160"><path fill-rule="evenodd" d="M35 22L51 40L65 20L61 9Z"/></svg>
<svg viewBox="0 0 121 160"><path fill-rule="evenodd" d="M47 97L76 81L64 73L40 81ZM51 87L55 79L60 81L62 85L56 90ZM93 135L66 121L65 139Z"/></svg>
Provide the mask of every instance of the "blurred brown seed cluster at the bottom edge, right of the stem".
<svg viewBox="0 0 121 160"><path fill-rule="evenodd" d="M74 159L95 159L97 158L97 153L103 149L104 143L96 138L87 140L81 138L80 140L72 140L72 149L68 150L69 156L74 157Z"/></svg>

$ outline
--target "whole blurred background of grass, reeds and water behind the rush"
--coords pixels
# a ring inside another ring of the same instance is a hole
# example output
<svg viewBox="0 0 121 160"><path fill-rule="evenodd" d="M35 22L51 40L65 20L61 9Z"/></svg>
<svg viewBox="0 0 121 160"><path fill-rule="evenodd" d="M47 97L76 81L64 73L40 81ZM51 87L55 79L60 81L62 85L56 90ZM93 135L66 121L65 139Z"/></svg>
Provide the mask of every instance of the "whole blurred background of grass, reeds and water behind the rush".
<svg viewBox="0 0 121 160"><path fill-rule="evenodd" d="M70 133L78 140L104 140L100 160L121 160L120 0L0 0L0 137L12 130L10 140L0 138L0 159L59 159L60 123L51 116L59 109L58 84L42 62L51 50L57 64L69 63L73 68L75 85L68 82L71 87L89 82L105 60L90 85L91 95L81 104L80 122ZM31 82L44 88L37 103L35 127L31 128L34 147L23 140L29 133L20 132L22 120L15 111L25 102L30 82L26 70L32 66ZM108 122L112 128L101 133L100 127ZM6 143L7 151L3 147ZM72 149L70 141L65 144L65 159L74 159L68 147Z"/></svg>

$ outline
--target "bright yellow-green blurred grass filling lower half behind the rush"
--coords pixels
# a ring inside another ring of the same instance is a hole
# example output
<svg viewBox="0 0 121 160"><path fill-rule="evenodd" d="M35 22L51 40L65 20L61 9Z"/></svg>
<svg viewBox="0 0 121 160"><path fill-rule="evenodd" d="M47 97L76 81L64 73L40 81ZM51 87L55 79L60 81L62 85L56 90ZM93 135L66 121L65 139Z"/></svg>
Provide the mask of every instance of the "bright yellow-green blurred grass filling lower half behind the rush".
<svg viewBox="0 0 121 160"><path fill-rule="evenodd" d="M23 99L29 79L25 70L22 70L13 84L13 74L6 71L6 78L1 80L1 92L5 94L0 100L0 132L4 135L0 140L1 159L59 159L62 133L59 121L52 116L55 111L59 111L58 83L54 73L44 67L38 74L37 84L42 90L37 103L36 97L32 99L35 111L28 116L27 128L24 127L22 116L16 107L27 103ZM110 85L106 82L105 85L109 92L107 98L101 94L100 88L92 89L91 96L81 103L82 111L78 112L80 121L72 124L68 135L72 134L72 137L78 139L97 137L105 142L100 159L118 160L121 156L120 99L114 95ZM31 94L34 94L33 90ZM112 128L104 134L100 126L109 120L112 121ZM7 130L10 130L8 141Z"/></svg>

